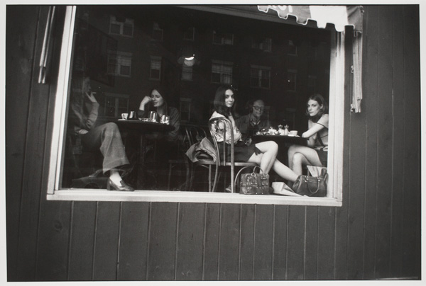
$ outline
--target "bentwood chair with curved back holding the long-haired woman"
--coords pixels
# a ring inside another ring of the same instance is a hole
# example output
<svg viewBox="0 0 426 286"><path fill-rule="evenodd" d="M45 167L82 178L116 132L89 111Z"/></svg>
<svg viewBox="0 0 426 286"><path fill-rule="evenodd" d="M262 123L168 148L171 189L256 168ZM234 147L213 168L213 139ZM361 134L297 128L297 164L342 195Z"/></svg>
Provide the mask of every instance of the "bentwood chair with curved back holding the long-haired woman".
<svg viewBox="0 0 426 286"><path fill-rule="evenodd" d="M216 132L215 129L217 129L218 127L223 126L223 134L224 134L224 140L223 142L217 142L216 137L214 137L214 132ZM219 173L222 171L222 169L224 168L229 168L231 171L231 193L236 193L235 190L235 185L236 185L236 181L238 180L239 174L241 173L241 171L243 171L245 168L251 168L254 166L257 166L256 163L251 163L251 162L239 162L239 161L235 161L234 159L234 132L229 132L231 135L231 144L226 144L226 130L231 127L231 121L229 121L227 118L213 118L212 120L209 120L209 130L210 133L212 134L212 138L213 138L213 142L214 142L214 147L216 149L216 169L215 169L215 173L214 173L214 183L213 183L213 188L212 191L214 192L217 188L217 182L218 182L218 177L219 177ZM220 144L222 144L223 148L222 148L222 156L221 156L221 152L219 151L219 146ZM229 161L226 160L226 154L227 152L230 152L231 154L231 159ZM236 167L240 167L241 169L239 170L239 172L237 173L237 175L235 176L235 168Z"/></svg>

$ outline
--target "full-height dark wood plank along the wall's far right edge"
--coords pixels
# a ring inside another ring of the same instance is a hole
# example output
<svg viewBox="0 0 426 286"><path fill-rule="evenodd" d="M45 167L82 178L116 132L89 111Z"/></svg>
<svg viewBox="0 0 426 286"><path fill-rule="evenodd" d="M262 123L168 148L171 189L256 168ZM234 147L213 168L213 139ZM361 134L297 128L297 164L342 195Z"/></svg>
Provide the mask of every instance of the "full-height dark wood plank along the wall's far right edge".
<svg viewBox="0 0 426 286"><path fill-rule="evenodd" d="M404 70L405 74L405 161L403 210L403 275L420 273L420 245L416 245L420 231L420 62L418 6L403 6L404 16ZM417 257L416 257L417 256ZM413 259L415 258L415 259ZM416 263L417 262L417 263Z"/></svg>

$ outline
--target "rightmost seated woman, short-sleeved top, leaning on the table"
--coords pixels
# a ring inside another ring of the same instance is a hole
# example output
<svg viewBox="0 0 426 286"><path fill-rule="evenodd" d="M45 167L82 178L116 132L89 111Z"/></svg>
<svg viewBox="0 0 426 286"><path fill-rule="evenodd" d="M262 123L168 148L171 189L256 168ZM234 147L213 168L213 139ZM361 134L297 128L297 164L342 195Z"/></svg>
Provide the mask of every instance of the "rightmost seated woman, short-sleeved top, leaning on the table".
<svg viewBox="0 0 426 286"><path fill-rule="evenodd" d="M288 149L288 164L298 175L302 174L302 166L327 166L329 115L327 103L320 94L308 98L306 115L308 130L302 137L308 139L308 147L292 145Z"/></svg>

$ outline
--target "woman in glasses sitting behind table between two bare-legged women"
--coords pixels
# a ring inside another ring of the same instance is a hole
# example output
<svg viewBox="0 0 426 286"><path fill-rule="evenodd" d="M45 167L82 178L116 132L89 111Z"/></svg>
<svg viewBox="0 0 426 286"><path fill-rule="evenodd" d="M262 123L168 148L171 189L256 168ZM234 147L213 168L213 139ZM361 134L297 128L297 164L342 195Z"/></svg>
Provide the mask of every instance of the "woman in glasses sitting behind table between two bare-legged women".
<svg viewBox="0 0 426 286"><path fill-rule="evenodd" d="M251 144L251 136L263 128L268 130L268 127L271 126L271 122L266 118L262 118L263 110L265 110L265 103L263 103L261 99L249 101L247 105L249 114L236 119L235 124L243 135L243 141L246 142L246 144Z"/></svg>

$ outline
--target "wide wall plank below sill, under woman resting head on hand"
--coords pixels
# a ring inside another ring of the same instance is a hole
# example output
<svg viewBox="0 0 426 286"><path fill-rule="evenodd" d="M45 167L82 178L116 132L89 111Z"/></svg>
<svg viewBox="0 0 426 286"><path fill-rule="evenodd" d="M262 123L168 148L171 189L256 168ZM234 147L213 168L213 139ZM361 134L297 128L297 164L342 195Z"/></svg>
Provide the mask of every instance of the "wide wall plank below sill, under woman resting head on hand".
<svg viewBox="0 0 426 286"><path fill-rule="evenodd" d="M178 203L151 202L147 280L175 279Z"/></svg>

